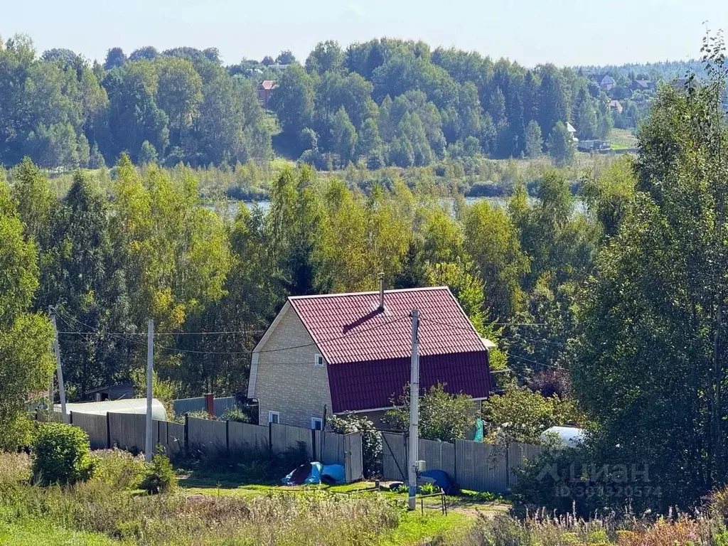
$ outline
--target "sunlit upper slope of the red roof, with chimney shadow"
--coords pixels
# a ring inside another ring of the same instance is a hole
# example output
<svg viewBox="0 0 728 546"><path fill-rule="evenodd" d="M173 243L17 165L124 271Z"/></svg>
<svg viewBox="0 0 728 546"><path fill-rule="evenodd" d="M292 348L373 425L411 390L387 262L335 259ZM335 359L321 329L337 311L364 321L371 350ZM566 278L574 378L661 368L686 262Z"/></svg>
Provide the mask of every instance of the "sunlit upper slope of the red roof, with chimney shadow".
<svg viewBox="0 0 728 546"><path fill-rule="evenodd" d="M447 287L386 290L384 313L379 311L379 292L296 296L289 301L329 364L409 357L412 309L419 310L420 355L485 350Z"/></svg>

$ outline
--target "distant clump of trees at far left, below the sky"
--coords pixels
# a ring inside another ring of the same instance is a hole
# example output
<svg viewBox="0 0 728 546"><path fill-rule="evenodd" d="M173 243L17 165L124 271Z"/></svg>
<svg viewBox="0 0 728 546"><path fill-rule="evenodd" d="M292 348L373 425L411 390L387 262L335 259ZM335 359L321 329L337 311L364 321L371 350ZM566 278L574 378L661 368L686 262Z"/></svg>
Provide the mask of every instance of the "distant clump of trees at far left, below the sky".
<svg viewBox="0 0 728 546"><path fill-rule="evenodd" d="M252 80L214 50L110 50L89 63L69 50L37 57L26 36L0 40L0 164L135 162L235 165L271 156L272 124Z"/></svg>

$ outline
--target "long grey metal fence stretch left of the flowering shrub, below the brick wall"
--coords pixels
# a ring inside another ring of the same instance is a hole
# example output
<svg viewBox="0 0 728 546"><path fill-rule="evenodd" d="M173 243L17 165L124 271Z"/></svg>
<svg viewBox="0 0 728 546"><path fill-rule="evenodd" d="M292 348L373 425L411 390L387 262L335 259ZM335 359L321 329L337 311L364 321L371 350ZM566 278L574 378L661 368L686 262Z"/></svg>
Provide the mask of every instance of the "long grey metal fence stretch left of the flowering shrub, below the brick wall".
<svg viewBox="0 0 728 546"><path fill-rule="evenodd" d="M145 448L145 415L71 412L70 422L89 434L94 449L117 446L128 451L143 451ZM312 461L343 465L347 483L363 478L360 432L340 435L285 424L264 427L186 417L185 424L154 419L152 443L155 449L161 445L170 455L181 451L270 451L280 455L302 444Z"/></svg>

